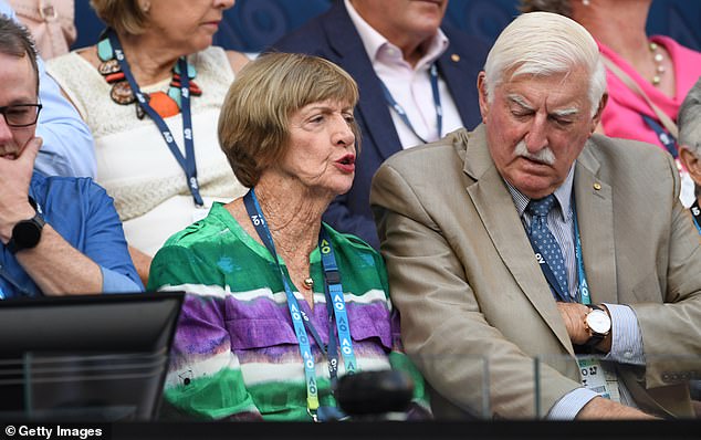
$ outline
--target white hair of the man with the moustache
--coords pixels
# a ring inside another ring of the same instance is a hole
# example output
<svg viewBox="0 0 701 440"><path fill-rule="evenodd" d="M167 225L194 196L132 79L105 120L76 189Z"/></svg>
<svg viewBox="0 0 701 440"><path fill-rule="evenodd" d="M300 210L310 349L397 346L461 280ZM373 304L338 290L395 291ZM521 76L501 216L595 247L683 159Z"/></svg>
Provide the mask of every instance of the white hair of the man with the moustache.
<svg viewBox="0 0 701 440"><path fill-rule="evenodd" d="M589 75L594 116L606 92L606 70L592 34L576 21L556 13L523 13L502 31L486 56L488 101L493 102L499 84L516 76L566 74L579 66Z"/></svg>

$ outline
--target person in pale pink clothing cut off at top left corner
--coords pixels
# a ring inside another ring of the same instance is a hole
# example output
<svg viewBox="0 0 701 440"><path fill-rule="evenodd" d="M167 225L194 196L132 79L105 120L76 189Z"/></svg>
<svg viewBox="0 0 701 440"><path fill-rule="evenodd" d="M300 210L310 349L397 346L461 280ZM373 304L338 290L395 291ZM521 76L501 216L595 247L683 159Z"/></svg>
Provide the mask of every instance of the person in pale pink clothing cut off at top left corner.
<svg viewBox="0 0 701 440"><path fill-rule="evenodd" d="M73 0L9 0L20 21L32 33L44 60L69 53L77 31Z"/></svg>

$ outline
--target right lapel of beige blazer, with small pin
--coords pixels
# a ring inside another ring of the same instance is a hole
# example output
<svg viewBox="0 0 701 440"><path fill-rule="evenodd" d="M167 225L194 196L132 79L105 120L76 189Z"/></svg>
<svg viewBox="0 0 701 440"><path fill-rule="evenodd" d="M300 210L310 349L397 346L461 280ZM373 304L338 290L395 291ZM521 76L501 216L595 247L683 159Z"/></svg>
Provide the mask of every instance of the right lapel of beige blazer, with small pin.
<svg viewBox="0 0 701 440"><path fill-rule="evenodd" d="M576 161L575 206L592 303L618 303L611 187L598 178L600 163L587 142Z"/></svg>

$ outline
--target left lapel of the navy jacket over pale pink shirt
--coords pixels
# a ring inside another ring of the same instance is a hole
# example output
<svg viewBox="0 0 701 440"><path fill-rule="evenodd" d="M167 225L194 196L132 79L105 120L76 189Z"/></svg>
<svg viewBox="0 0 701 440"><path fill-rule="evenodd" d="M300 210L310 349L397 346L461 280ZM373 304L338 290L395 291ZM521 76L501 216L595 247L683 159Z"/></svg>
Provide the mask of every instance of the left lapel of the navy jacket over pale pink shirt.
<svg viewBox="0 0 701 440"><path fill-rule="evenodd" d="M365 127L364 135L372 137L372 143L383 159L386 159L401 149L399 135L385 102L379 78L343 1L334 3L323 27L331 49L337 56L337 60L332 61L348 72L362 91L356 112Z"/></svg>

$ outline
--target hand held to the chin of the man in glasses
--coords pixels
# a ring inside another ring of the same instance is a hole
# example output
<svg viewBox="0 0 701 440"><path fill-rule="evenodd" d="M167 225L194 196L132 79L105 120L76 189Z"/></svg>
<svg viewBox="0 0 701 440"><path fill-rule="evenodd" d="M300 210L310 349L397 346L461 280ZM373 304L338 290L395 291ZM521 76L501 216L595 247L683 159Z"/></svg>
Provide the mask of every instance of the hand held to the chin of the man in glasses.
<svg viewBox="0 0 701 440"><path fill-rule="evenodd" d="M18 221L34 216L28 199L29 182L41 144L40 137L32 137L18 157L0 157L0 241L3 244L12 237L12 228Z"/></svg>

